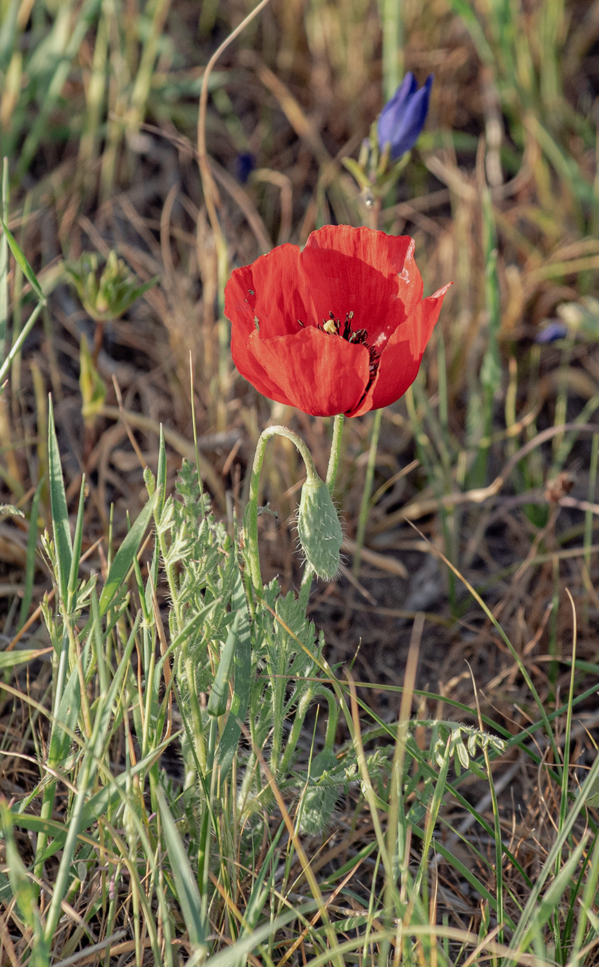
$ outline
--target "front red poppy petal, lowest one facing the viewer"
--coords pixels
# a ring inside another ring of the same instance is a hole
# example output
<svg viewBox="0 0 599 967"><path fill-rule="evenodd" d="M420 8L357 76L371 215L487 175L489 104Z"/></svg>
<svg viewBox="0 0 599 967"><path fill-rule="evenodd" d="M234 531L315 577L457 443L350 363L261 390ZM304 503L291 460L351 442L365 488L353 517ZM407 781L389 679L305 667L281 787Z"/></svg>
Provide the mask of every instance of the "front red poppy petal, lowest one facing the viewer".
<svg viewBox="0 0 599 967"><path fill-rule="evenodd" d="M314 327L294 336L250 339L256 362L293 406L316 417L352 409L364 395L370 357L365 346ZM253 381L254 382L254 381ZM279 398L268 393L267 396Z"/></svg>

